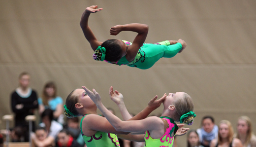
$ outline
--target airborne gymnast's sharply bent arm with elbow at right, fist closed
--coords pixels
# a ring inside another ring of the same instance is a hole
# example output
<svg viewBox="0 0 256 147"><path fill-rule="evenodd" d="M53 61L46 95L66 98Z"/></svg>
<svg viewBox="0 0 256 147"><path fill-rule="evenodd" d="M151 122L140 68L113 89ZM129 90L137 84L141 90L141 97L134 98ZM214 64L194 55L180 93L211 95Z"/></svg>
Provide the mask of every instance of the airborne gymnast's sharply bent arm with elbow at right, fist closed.
<svg viewBox="0 0 256 147"><path fill-rule="evenodd" d="M118 35L122 31L132 31L138 33L134 38L132 44L128 46L126 59L130 62L135 59L135 56L138 53L139 48L143 45L148 35L149 27L145 24L126 24L126 25L117 25L111 27L110 35Z"/></svg>

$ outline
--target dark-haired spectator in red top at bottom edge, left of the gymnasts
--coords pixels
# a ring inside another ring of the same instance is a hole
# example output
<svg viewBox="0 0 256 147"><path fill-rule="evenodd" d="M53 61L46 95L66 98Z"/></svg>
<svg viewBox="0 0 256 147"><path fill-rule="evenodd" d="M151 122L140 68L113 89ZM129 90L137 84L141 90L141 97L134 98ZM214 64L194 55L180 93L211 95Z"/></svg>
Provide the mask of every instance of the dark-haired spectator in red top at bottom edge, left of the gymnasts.
<svg viewBox="0 0 256 147"><path fill-rule="evenodd" d="M58 141L56 147L83 147L77 143L66 129L63 129L58 134Z"/></svg>

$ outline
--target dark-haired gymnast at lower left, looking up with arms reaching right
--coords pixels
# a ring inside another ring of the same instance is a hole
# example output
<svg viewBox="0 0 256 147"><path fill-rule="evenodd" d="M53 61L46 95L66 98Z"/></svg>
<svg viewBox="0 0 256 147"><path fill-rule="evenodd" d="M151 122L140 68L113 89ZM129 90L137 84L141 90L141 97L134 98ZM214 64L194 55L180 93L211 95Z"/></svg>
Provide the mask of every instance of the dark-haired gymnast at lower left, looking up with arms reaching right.
<svg viewBox="0 0 256 147"><path fill-rule="evenodd" d="M123 95L118 91L114 91L112 86L109 89L109 95L111 100L118 105L124 120L146 118L161 105L165 98L162 97L156 100L156 96L144 110L131 118L125 107ZM118 138L136 138L137 135L128 134L129 132L116 131L105 117L97 115L96 110L95 103L86 94L84 89L75 89L66 98L64 105L65 115L67 117L83 116L81 120L81 133L87 147L118 147L120 146Z"/></svg>

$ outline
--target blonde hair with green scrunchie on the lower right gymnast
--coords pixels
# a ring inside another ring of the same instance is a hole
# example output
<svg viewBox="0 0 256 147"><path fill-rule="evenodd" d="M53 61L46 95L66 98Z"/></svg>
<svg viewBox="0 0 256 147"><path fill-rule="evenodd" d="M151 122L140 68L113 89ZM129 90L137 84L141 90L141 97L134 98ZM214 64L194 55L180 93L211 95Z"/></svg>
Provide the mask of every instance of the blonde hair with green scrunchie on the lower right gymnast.
<svg viewBox="0 0 256 147"><path fill-rule="evenodd" d="M174 107L176 109L174 119L179 120L180 123L192 125L196 114L193 112L194 104L190 95L184 93L183 98L174 102Z"/></svg>

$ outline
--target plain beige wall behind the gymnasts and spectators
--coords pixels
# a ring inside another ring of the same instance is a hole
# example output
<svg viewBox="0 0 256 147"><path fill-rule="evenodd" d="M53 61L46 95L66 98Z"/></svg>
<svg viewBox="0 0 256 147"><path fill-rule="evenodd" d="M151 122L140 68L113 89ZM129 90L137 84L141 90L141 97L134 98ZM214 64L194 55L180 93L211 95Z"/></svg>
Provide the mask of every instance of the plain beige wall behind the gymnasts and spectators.
<svg viewBox="0 0 256 147"><path fill-rule="evenodd" d="M103 7L89 19L100 41L132 41L136 33L110 36L109 29L143 23L149 25L146 43L182 38L187 48L149 70L95 61L79 26L83 11L93 4ZM111 85L132 113L155 95L187 92L197 114L191 129L209 114L217 123L230 120L233 127L241 115L255 122L255 8L255 0L0 0L0 117L12 113L10 93L18 86L18 75L27 71L39 96L49 80L57 83L64 100L85 85L95 88L119 117L108 96ZM2 122L0 128L4 126ZM186 136L177 141L178 147L186 146Z"/></svg>

